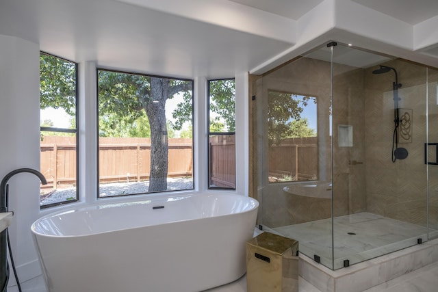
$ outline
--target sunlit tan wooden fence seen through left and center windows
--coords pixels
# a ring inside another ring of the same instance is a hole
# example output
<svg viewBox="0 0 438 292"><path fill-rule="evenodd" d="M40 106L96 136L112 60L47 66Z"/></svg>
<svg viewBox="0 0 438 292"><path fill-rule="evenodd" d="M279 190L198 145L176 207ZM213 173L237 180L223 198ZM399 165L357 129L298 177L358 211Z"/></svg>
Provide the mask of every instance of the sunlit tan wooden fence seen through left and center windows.
<svg viewBox="0 0 438 292"><path fill-rule="evenodd" d="M44 136L40 143L40 169L47 188L76 183L75 137ZM151 164L150 138L99 138L101 183L144 181ZM169 139L168 176L192 176L191 139Z"/></svg>

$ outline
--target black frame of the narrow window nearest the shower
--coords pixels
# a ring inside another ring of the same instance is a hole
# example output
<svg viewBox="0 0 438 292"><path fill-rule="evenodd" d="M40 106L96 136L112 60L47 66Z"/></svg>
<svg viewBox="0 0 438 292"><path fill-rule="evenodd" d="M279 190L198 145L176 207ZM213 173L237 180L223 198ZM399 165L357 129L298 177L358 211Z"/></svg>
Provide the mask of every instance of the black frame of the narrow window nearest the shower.
<svg viewBox="0 0 438 292"><path fill-rule="evenodd" d="M218 190L231 190L231 191L235 191L236 189L236 151L235 151L235 145L234 145L234 187L212 187L211 186L211 151L210 151L210 137L212 136L220 136L220 135L229 135L229 136L234 136L235 137L235 132L211 132L210 131L210 105L211 105L211 98L210 98L210 83L212 81L222 81L222 80L233 80L234 81L234 86L235 86L235 78L221 78L221 79L208 79L207 80L207 188L210 189L218 189ZM234 99L234 103L236 103L235 99ZM234 112L234 121L235 121L235 112Z"/></svg>

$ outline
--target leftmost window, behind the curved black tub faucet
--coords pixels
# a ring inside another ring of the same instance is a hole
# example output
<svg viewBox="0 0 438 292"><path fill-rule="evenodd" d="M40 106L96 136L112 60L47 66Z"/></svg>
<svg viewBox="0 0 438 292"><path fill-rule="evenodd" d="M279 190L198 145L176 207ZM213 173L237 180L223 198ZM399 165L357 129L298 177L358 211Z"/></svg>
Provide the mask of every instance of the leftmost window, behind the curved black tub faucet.
<svg viewBox="0 0 438 292"><path fill-rule="evenodd" d="M77 64L40 53L40 207L77 201Z"/></svg>

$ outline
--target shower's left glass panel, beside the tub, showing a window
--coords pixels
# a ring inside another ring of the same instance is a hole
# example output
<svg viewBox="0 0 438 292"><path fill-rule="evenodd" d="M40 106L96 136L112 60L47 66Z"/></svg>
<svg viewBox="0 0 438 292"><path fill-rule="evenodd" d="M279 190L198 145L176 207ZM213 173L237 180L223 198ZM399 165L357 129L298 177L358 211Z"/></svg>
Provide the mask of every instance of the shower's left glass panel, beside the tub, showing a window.
<svg viewBox="0 0 438 292"><path fill-rule="evenodd" d="M253 88L259 222L333 267L330 51L280 66Z"/></svg>

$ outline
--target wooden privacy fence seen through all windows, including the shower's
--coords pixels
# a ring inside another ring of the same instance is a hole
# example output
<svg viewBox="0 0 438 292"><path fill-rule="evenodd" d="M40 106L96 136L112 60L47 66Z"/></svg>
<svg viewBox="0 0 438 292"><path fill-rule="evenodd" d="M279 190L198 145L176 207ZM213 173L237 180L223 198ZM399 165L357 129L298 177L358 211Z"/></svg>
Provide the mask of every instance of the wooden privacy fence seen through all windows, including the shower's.
<svg viewBox="0 0 438 292"><path fill-rule="evenodd" d="M270 181L308 181L318 174L317 137L291 138L270 146ZM47 178L44 188L75 185L75 137L44 136L41 172ZM209 185L235 187L235 135L209 139ZM99 138L99 178L101 183L149 179L151 140L149 138ZM168 176L192 177L191 139L169 139Z"/></svg>

